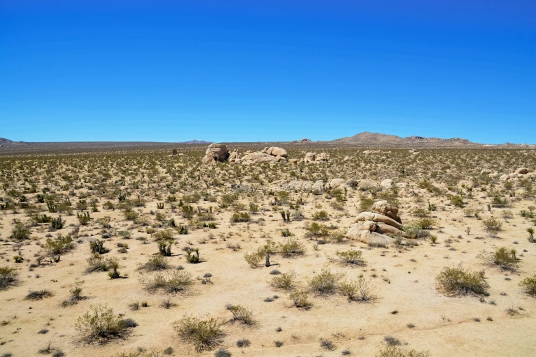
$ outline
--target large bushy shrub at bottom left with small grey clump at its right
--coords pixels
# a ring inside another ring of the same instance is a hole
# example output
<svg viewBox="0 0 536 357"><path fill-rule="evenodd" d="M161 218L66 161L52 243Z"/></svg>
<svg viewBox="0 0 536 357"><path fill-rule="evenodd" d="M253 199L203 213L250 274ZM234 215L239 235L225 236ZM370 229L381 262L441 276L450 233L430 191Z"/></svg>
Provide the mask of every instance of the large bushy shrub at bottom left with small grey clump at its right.
<svg viewBox="0 0 536 357"><path fill-rule="evenodd" d="M129 319L121 319L112 308L106 305L91 306L90 311L81 315L75 324L76 329L86 339L110 339L121 336L127 328L134 327L136 323Z"/></svg>

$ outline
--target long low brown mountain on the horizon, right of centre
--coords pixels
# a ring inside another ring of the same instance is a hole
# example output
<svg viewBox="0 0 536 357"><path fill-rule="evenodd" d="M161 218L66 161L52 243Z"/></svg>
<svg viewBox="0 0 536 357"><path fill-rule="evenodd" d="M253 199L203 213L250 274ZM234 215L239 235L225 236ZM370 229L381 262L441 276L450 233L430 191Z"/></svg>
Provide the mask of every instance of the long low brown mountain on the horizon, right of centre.
<svg viewBox="0 0 536 357"><path fill-rule="evenodd" d="M381 133L365 131L354 136L331 140L334 144L359 144L366 146L481 146L482 144L470 142L467 139L452 137L441 139L439 137L409 136L400 137Z"/></svg>

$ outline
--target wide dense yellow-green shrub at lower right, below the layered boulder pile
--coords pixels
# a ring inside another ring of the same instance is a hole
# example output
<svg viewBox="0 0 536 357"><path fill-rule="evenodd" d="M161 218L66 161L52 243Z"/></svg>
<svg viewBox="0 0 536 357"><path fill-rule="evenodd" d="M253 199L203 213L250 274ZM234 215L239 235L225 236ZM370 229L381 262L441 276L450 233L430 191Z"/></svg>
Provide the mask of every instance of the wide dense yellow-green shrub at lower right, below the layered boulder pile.
<svg viewBox="0 0 536 357"><path fill-rule="evenodd" d="M437 290L446 295L489 295L489 285L484 280L484 274L463 269L461 265L444 267L435 277L435 282Z"/></svg>

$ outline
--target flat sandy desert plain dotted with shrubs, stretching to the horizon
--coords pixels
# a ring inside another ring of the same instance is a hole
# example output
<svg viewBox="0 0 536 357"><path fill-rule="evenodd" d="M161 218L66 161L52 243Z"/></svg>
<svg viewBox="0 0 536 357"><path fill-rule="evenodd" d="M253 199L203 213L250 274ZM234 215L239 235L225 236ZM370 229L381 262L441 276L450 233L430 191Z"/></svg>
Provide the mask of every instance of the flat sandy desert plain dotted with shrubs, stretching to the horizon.
<svg viewBox="0 0 536 357"><path fill-rule="evenodd" d="M0 152L0 356L536 356L534 148L227 149Z"/></svg>

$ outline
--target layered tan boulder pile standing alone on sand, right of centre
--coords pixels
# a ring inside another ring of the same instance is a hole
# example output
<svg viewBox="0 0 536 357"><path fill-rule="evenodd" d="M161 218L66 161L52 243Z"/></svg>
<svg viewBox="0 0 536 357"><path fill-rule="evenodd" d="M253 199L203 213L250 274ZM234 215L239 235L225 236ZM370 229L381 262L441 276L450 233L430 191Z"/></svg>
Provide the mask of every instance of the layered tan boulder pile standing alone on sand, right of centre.
<svg viewBox="0 0 536 357"><path fill-rule="evenodd" d="M398 208L387 201L374 202L372 212L359 213L354 222L346 238L371 246L390 246L396 238L408 238L402 230Z"/></svg>

